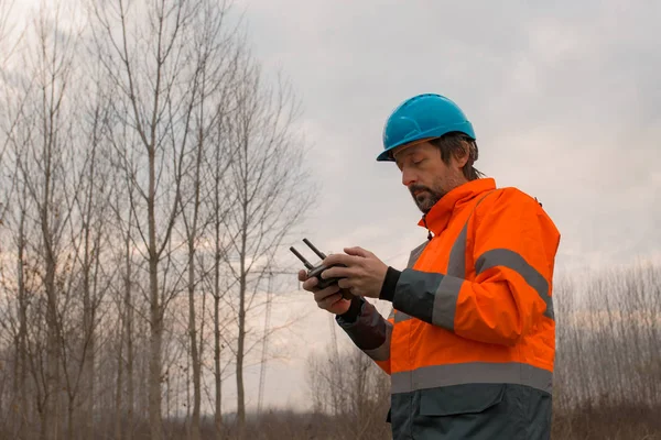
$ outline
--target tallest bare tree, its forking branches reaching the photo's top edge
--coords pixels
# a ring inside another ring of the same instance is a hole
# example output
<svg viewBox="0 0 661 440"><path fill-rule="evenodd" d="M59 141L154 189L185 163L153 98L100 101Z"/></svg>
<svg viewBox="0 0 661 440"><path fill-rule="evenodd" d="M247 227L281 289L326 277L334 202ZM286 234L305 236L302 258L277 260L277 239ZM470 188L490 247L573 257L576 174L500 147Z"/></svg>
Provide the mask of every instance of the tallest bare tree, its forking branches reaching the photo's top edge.
<svg viewBox="0 0 661 440"><path fill-rule="evenodd" d="M195 143L191 141L195 139L191 123L203 73L199 65L188 63L198 51L195 33L198 19L206 12L204 4L174 0L94 4L97 24L102 30L96 35L101 63L129 109L128 114L117 112L116 117L138 136L138 145L127 145L118 153L124 162L127 180L136 188L131 210L149 261L149 413L154 440L163 438L164 316L180 279L175 275L173 284L166 287L165 275L160 272L163 257L171 258L178 248L172 242L173 229L180 220L182 179L189 169L188 153ZM164 270L174 267L165 265Z"/></svg>

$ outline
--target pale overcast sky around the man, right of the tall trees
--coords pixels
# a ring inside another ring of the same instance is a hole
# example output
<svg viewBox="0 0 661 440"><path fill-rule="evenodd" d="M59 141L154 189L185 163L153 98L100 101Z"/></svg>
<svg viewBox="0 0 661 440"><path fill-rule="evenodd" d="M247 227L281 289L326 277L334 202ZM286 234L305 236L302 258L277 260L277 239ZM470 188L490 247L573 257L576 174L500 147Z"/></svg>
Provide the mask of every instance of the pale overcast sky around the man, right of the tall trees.
<svg viewBox="0 0 661 440"><path fill-rule="evenodd" d="M437 92L473 122L477 168L555 221L557 274L659 258L661 2L237 1L256 55L302 102L323 190L301 238L405 265L426 232L397 166L375 158L392 109ZM328 315L295 287L280 286L290 295L273 319L306 319L272 343L290 360L270 365L267 404L306 404L305 358L328 341ZM258 377L247 376L251 405Z"/></svg>

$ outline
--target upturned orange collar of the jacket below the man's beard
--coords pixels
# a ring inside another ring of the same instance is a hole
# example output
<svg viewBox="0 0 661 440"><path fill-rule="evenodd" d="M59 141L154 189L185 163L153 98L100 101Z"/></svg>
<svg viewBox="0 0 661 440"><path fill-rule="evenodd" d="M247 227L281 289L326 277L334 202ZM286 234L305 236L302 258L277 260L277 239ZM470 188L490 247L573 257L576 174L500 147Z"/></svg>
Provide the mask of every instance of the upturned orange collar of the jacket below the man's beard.
<svg viewBox="0 0 661 440"><path fill-rule="evenodd" d="M426 228L430 233L433 232L434 235L438 235L445 230L456 209L460 209L478 195L491 189L496 189L496 180L490 177L479 178L459 185L443 196L443 198L438 200L426 215L422 216L422 219L418 224ZM431 240L431 234L429 239Z"/></svg>

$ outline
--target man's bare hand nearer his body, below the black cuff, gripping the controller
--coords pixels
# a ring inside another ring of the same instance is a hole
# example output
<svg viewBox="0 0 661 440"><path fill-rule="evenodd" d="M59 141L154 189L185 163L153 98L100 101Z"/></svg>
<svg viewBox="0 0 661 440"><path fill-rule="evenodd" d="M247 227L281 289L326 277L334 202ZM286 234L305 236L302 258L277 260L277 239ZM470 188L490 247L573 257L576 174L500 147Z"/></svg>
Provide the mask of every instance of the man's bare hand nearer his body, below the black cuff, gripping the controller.
<svg viewBox="0 0 661 440"><path fill-rule="evenodd" d="M349 289L351 294L379 298L388 265L362 248L345 248L344 251L346 255L328 255L324 265L344 264L346 267L330 267L322 273L322 278L343 278L338 282L339 287Z"/></svg>

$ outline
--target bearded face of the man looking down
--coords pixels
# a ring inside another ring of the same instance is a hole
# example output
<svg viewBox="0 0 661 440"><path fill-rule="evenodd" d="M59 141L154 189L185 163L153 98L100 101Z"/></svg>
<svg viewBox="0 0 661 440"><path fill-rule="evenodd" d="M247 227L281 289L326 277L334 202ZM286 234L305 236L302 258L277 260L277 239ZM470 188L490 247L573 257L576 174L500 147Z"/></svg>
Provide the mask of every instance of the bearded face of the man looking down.
<svg viewBox="0 0 661 440"><path fill-rule="evenodd" d="M467 182L462 173L466 160L451 155L449 164L445 164L441 151L429 142L403 145L395 148L393 156L402 172L402 184L409 188L423 213L427 213L452 189Z"/></svg>

